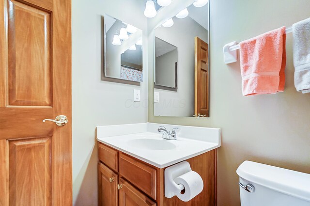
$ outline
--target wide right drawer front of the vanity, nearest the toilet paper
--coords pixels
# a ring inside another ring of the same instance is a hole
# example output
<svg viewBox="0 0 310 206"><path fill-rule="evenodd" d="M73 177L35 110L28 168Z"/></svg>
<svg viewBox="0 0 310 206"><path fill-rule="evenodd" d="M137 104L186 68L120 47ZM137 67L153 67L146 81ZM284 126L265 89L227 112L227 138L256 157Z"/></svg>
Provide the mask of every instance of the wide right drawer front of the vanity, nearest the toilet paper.
<svg viewBox="0 0 310 206"><path fill-rule="evenodd" d="M121 176L156 199L156 170L154 168L120 153L119 170Z"/></svg>

